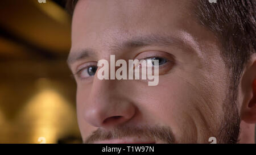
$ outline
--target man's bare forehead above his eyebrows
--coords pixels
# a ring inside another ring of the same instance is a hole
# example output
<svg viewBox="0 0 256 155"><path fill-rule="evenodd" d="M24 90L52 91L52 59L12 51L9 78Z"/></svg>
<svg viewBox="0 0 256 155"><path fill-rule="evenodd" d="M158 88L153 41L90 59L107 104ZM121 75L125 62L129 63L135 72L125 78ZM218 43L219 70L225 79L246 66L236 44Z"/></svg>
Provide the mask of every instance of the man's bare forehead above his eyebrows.
<svg viewBox="0 0 256 155"><path fill-rule="evenodd" d="M96 44L105 47L150 33L177 35L189 29L190 7L188 0L80 0L73 14L72 48L82 48L81 45L94 48Z"/></svg>

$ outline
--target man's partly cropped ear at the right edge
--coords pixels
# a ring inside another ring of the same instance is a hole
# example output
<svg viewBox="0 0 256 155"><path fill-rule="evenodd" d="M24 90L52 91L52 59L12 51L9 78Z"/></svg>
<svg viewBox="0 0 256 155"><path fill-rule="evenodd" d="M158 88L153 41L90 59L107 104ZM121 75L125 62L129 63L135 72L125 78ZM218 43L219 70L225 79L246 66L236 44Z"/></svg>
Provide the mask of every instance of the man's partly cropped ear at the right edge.
<svg viewBox="0 0 256 155"><path fill-rule="evenodd" d="M242 77L244 99L241 119L246 123L256 123L256 54L251 57Z"/></svg>

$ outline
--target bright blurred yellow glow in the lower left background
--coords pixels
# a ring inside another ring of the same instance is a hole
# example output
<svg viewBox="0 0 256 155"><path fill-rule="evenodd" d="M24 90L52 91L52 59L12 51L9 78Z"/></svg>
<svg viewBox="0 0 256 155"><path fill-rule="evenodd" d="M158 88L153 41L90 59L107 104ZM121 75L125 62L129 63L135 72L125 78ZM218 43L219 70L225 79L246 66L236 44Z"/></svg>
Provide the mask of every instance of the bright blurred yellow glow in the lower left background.
<svg viewBox="0 0 256 155"><path fill-rule="evenodd" d="M76 110L50 87L47 79L40 79L38 85L38 93L20 110L17 121L26 120L31 125L31 143L40 143L39 137L45 137L46 143L56 143L58 137L76 125Z"/></svg>

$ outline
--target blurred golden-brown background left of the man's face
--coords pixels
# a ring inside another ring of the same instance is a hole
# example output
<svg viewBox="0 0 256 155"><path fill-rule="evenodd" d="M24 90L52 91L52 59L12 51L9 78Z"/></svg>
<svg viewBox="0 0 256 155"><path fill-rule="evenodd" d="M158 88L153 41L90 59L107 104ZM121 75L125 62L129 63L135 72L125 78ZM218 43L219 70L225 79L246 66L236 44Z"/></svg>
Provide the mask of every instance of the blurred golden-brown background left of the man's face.
<svg viewBox="0 0 256 155"><path fill-rule="evenodd" d="M81 143L71 16L39 1L0 1L0 143Z"/></svg>

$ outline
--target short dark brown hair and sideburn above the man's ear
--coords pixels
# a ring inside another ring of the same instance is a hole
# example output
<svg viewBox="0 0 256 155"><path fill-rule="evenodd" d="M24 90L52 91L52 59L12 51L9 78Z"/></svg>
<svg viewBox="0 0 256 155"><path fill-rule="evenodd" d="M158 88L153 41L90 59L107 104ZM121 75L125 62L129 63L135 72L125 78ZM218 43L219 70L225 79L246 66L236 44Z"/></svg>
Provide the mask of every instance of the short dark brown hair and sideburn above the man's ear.
<svg viewBox="0 0 256 155"><path fill-rule="evenodd" d="M237 90L245 64L255 53L255 6L255 0L198 0L195 5L201 25L215 33L222 44L231 90Z"/></svg>

